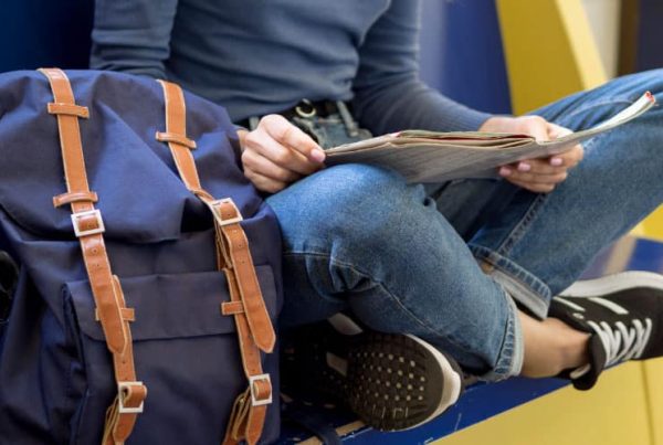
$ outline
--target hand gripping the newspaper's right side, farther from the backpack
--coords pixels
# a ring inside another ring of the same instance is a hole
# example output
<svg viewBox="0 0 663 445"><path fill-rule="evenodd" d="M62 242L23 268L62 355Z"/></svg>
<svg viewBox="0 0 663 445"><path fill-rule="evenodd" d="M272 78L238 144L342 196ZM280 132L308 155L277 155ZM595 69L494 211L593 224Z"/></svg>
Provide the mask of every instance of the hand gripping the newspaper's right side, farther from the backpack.
<svg viewBox="0 0 663 445"><path fill-rule="evenodd" d="M540 116L495 116L486 120L480 131L518 133L534 136L536 140L550 140L571 133L568 128L551 124ZM549 193L564 182L568 171L582 160L580 144L568 151L548 158L527 159L502 166L499 176L507 181L538 193Z"/></svg>

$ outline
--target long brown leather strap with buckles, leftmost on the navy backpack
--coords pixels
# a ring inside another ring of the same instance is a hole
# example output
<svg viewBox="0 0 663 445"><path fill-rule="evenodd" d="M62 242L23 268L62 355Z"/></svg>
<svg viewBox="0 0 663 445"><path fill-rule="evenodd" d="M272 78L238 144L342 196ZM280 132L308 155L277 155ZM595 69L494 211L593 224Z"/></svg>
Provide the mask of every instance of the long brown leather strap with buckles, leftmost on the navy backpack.
<svg viewBox="0 0 663 445"><path fill-rule="evenodd" d="M49 80L55 99L48 105L48 113L57 118L67 189L67 193L53 198L53 204L71 204L72 223L81 243L96 314L108 350L113 354L117 396L108 407L102 443L124 444L134 428L136 415L143 411L147 388L136 381L129 329L134 312L126 307L119 279L110 272L103 236L104 221L102 213L94 206L97 195L90 191L87 182L78 118L88 117L90 113L86 107L75 104L71 84L64 72L57 68L39 71Z"/></svg>

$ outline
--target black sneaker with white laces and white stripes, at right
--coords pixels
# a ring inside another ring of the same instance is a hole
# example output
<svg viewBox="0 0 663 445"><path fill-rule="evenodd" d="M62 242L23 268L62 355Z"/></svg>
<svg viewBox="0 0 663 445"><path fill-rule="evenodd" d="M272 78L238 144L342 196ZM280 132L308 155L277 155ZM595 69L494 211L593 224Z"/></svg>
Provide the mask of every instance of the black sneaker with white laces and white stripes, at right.
<svg viewBox="0 0 663 445"><path fill-rule="evenodd" d="M562 375L589 390L608 367L663 356L663 275L623 272L577 282L552 298L549 316L591 333L590 363Z"/></svg>

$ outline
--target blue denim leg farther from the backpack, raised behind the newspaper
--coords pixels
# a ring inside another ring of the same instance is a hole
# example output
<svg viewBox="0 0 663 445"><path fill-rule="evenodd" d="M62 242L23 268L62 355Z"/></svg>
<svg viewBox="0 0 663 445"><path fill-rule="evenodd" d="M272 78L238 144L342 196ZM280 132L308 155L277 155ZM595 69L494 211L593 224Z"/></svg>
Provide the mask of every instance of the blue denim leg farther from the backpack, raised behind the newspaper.
<svg viewBox="0 0 663 445"><path fill-rule="evenodd" d="M663 102L663 70L614 80L534 112L573 130L614 115L651 91ZM552 193L520 190L471 240L491 275L544 318L604 246L663 202L663 107L585 142L585 159Z"/></svg>

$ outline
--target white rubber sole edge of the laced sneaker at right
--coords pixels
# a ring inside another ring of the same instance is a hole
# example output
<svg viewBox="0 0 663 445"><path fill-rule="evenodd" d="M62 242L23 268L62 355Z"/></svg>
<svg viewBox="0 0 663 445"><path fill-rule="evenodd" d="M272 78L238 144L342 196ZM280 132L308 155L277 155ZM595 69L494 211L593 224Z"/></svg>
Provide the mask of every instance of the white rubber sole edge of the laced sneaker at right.
<svg viewBox="0 0 663 445"><path fill-rule="evenodd" d="M663 275L653 272L629 271L601 278L573 283L562 290L560 297L593 297L614 294L633 287L663 289Z"/></svg>

